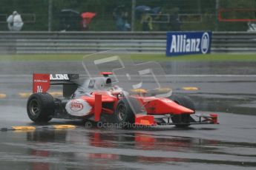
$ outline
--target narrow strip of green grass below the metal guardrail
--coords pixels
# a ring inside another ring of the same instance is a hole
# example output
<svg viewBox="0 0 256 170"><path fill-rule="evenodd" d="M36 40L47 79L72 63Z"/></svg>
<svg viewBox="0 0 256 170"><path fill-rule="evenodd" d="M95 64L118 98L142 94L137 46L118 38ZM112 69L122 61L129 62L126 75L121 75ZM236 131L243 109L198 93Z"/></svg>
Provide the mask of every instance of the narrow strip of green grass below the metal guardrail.
<svg viewBox="0 0 256 170"><path fill-rule="evenodd" d="M81 61L83 54L0 55L0 61ZM166 57L162 54L131 54L134 61L256 61L256 54L209 54Z"/></svg>

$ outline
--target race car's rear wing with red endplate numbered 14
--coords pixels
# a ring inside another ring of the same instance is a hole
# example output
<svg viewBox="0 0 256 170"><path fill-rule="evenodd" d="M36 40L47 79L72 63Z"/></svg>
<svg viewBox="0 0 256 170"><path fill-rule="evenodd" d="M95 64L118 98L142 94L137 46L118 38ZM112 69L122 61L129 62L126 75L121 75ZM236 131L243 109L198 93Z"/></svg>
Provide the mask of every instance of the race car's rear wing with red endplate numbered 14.
<svg viewBox="0 0 256 170"><path fill-rule="evenodd" d="M33 93L47 92L50 85L63 85L64 97L69 97L79 86L74 81L79 79L78 74L33 74Z"/></svg>

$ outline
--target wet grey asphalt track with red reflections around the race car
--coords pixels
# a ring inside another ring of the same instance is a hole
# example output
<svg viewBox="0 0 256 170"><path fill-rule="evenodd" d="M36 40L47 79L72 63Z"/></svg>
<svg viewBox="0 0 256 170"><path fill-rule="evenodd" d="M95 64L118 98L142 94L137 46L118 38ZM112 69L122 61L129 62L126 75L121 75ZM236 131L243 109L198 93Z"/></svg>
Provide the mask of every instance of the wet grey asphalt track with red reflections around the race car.
<svg viewBox="0 0 256 170"><path fill-rule="evenodd" d="M1 169L255 169L256 63L162 66L174 93L189 95L199 112L217 112L220 125L96 129L55 119L49 124L78 128L1 132ZM32 72L63 70L83 73L79 62L1 62L0 127L39 127L27 118L19 93L30 92Z"/></svg>

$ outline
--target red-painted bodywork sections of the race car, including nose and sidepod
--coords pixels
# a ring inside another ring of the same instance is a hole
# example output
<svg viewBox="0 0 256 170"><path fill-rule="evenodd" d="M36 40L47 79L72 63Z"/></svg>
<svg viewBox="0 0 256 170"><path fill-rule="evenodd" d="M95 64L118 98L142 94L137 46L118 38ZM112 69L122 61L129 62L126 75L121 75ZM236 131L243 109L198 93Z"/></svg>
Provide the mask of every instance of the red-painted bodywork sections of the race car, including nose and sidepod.
<svg viewBox="0 0 256 170"><path fill-rule="evenodd" d="M103 72L102 75L111 74ZM50 88L49 74L33 74L33 92L47 92ZM82 95L80 98L89 103L92 107L88 115L94 115L94 120L99 121L102 113L112 115L116 105L120 99L119 93L110 91L94 91L91 96ZM122 97L121 97L122 98ZM130 95L130 98L135 98L140 106L145 108L145 114L135 115L135 124L152 126L155 125L154 115L180 115L180 114L194 114L194 111L184 106L171 101L168 98L157 97L143 97L141 95ZM103 103L113 103L113 108L108 109L104 107ZM204 118L204 117L203 117ZM217 115L211 115L208 118L212 123L217 123Z"/></svg>

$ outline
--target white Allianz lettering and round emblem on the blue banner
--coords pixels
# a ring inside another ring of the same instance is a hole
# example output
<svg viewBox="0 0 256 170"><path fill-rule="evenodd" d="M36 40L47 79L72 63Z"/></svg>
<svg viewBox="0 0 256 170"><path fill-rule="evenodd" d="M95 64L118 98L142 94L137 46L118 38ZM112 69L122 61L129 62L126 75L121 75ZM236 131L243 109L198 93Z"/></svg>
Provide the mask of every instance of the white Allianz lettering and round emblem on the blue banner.
<svg viewBox="0 0 256 170"><path fill-rule="evenodd" d="M201 38L187 38L186 34L172 35L170 52L202 52L209 50L209 33L203 33Z"/></svg>

